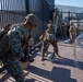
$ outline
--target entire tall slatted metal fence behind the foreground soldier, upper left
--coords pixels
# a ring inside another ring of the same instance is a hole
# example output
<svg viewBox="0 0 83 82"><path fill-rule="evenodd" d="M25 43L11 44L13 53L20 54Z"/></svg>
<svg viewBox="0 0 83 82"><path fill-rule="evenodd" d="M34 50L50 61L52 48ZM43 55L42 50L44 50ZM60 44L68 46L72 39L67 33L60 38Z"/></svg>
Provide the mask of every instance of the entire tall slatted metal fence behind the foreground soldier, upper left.
<svg viewBox="0 0 83 82"><path fill-rule="evenodd" d="M11 3L10 3L11 1ZM19 1L19 2L17 2ZM0 28L5 24L21 23L26 13L34 13L38 16L38 27L33 30L33 36L39 40L45 32L51 14L51 4L47 0L1 0ZM23 2L23 3L22 3ZM25 2L25 3L24 3ZM20 5L21 4L21 5ZM25 7L25 8L24 8Z"/></svg>

